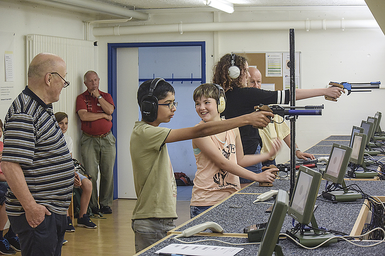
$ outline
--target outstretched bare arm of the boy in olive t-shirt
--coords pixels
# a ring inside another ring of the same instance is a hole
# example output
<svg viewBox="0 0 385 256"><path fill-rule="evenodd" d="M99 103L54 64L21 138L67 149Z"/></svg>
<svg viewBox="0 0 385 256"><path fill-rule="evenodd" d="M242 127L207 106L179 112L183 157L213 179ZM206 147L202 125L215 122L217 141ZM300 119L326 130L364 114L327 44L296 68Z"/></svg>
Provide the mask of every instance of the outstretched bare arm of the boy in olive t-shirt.
<svg viewBox="0 0 385 256"><path fill-rule="evenodd" d="M270 123L270 119L268 119L267 116L270 116L272 118L274 117L274 115L270 112L258 111L228 120L212 121L194 127L173 129L170 131L165 142L169 143L187 139L206 137L244 125L266 127Z"/></svg>

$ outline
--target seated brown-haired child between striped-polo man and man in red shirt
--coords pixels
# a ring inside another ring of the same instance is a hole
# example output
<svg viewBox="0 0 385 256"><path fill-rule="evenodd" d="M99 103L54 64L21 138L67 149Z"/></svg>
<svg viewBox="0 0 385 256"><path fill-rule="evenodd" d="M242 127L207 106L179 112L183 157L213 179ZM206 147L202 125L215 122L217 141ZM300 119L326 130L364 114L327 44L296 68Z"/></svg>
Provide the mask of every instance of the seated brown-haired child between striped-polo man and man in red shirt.
<svg viewBox="0 0 385 256"><path fill-rule="evenodd" d="M65 135L65 132L68 129L68 116L63 112L57 112L55 113L55 118L60 126L61 131L64 134L64 138L65 138L65 141L67 142L69 152L71 153L71 156L72 156L72 148L73 148L72 138L70 136ZM90 203L90 198L92 193L92 183L89 179L87 179L86 176L82 175L81 173L75 172L75 178L76 176L79 176L81 181L80 188L83 190L82 195L80 197L80 213L78 218L78 227L97 228L95 223L93 223L90 220L90 217L87 215L87 208L88 208L88 204ZM68 211L67 211L67 221L68 221L68 227L66 229L66 232L75 231L72 225L71 217L68 216Z"/></svg>

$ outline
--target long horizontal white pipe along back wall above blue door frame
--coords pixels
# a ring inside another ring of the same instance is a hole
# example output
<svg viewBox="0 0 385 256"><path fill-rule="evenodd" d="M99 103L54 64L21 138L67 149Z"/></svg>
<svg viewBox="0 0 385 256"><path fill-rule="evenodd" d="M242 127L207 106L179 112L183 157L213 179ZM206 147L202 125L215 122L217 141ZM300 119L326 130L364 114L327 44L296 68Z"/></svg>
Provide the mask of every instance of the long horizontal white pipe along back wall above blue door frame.
<svg viewBox="0 0 385 256"><path fill-rule="evenodd" d="M250 31L250 30L319 30L346 28L379 28L375 20L304 20L304 21L255 21L255 22L211 22L211 23L177 23L163 25L138 25L95 27L94 36L133 35L150 33L210 32L210 31Z"/></svg>

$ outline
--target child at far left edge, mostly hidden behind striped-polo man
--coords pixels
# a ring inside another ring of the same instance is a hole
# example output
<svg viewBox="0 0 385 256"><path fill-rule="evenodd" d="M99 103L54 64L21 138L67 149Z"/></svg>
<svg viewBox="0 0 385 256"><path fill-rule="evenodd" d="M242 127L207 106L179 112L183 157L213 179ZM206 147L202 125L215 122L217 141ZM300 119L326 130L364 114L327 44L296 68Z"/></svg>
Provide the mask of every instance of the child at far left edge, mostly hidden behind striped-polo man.
<svg viewBox="0 0 385 256"><path fill-rule="evenodd" d="M3 136L3 122L0 120L0 138ZM0 162L2 160L4 144L0 141ZM9 189L6 177L0 169L0 254L15 254L16 251L20 250L20 242L17 235L13 232L10 226L7 234L3 237L4 227L7 224L8 216L6 213L6 193Z"/></svg>

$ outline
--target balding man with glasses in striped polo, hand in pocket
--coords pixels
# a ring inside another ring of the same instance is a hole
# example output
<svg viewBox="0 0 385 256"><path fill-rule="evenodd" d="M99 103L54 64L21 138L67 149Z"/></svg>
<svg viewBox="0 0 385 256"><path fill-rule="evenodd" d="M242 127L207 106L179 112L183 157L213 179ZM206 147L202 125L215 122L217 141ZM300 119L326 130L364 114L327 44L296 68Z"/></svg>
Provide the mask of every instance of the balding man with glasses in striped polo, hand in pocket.
<svg viewBox="0 0 385 256"><path fill-rule="evenodd" d="M6 211L23 256L61 254L74 166L52 103L69 85L66 74L59 56L36 55L5 118L1 168L12 190Z"/></svg>

